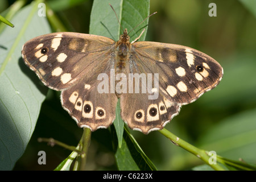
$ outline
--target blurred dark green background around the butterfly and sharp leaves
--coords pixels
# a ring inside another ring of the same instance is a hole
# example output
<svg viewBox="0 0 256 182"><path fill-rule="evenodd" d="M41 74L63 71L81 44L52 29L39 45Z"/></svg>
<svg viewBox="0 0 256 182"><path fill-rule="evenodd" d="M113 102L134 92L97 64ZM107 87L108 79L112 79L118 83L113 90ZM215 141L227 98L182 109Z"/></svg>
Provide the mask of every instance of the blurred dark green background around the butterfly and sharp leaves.
<svg viewBox="0 0 256 182"><path fill-rule="evenodd" d="M208 7L216 3L217 16ZM14 1L1 0L0 13ZM93 1L52 0L49 5L68 31L88 33ZM228 159L256 164L256 1L151 0L146 40L181 44L207 53L224 68L220 84L196 102L183 106L166 129L205 150ZM116 21L116 19L113 19ZM159 170L184 170L203 164L196 156L153 131L131 131ZM14 170L52 170L71 153L38 143L54 138L76 146L82 135L62 109L59 93L48 91L34 134ZM47 152L47 165L38 164L38 151ZM89 170L117 169L108 130L92 133Z"/></svg>

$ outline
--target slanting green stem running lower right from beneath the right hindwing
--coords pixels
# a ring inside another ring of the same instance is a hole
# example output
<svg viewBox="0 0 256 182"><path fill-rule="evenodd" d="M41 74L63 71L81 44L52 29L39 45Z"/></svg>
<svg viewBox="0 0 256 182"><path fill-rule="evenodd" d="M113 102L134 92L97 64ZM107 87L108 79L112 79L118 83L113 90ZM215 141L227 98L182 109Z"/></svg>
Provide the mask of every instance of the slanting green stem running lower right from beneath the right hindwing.
<svg viewBox="0 0 256 182"><path fill-rule="evenodd" d="M177 146L180 146L181 148L184 148L185 150L187 150L191 154L197 156L197 158L203 160L206 164L208 164L214 170L216 170L216 171L224 171L224 168L222 168L218 164L209 164L210 157L207 155L207 151L201 150L201 149L199 149L199 148L197 148L195 146L192 146L192 144L189 144L189 143L185 142L184 140L180 139L179 137L177 137L176 135L172 134L170 131L168 131L166 129L159 130L159 132L161 134L163 134L164 137L167 137L168 139L170 139Z"/></svg>

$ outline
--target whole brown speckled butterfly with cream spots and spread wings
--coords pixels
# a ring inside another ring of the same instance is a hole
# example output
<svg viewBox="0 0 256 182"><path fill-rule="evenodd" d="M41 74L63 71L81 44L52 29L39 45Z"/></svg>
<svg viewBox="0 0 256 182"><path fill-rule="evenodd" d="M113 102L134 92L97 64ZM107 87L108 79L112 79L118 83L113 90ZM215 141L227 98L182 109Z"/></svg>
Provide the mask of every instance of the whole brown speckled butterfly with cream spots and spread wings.
<svg viewBox="0 0 256 182"><path fill-rule="evenodd" d="M61 90L61 104L77 125L92 131L113 123L118 98L131 129L163 129L182 105L213 89L223 75L221 65L203 52L130 43L126 29L117 42L75 32L38 36L24 44L22 57L44 85Z"/></svg>

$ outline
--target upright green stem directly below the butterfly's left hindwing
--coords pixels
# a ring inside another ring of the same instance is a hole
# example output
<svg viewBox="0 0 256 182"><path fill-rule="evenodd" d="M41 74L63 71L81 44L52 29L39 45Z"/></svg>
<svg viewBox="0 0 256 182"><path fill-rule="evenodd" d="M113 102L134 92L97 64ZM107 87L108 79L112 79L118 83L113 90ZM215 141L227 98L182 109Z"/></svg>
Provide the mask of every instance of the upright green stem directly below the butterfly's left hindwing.
<svg viewBox="0 0 256 182"><path fill-rule="evenodd" d="M92 131L90 131L90 129L84 128L84 133L82 134L82 138L80 140L81 151L84 152L84 154L79 156L80 165L79 165L78 169L80 171L85 171L85 164L86 164L86 159L88 156L88 148L90 145L91 134L92 134Z"/></svg>

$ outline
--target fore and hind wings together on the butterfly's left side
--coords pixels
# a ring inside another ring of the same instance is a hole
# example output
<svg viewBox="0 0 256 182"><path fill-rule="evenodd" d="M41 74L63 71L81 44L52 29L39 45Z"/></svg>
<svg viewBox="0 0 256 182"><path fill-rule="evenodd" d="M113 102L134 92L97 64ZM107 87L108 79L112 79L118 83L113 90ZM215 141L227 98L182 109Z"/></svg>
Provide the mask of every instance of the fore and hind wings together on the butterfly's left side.
<svg viewBox="0 0 256 182"><path fill-rule="evenodd" d="M117 97L97 90L97 76L113 68L114 43L103 36L57 32L26 42L22 57L44 85L62 90L61 104L77 125L94 131L115 118Z"/></svg>

